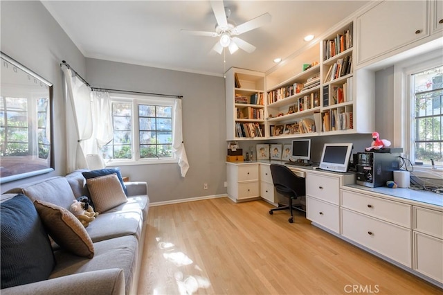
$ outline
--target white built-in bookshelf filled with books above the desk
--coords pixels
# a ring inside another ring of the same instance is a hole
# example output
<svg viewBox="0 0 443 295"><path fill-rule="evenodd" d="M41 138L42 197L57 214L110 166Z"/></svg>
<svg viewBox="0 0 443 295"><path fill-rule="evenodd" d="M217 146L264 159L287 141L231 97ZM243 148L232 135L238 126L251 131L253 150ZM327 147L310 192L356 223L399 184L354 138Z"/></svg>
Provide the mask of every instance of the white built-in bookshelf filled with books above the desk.
<svg viewBox="0 0 443 295"><path fill-rule="evenodd" d="M372 132L374 90L368 85L373 85L374 75L363 69L354 72L355 53L350 21L266 75L230 69L228 140Z"/></svg>

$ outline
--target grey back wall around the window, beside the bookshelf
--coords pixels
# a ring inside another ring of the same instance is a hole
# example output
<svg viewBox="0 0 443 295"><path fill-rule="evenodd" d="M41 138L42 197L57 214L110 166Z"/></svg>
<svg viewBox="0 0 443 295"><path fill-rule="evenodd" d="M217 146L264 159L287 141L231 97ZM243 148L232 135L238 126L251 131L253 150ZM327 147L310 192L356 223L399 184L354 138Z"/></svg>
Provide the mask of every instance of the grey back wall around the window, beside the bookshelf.
<svg viewBox="0 0 443 295"><path fill-rule="evenodd" d="M226 194L224 78L90 58L86 65L93 87L183 96L186 178L175 163L120 166L131 181L148 182L151 202Z"/></svg>

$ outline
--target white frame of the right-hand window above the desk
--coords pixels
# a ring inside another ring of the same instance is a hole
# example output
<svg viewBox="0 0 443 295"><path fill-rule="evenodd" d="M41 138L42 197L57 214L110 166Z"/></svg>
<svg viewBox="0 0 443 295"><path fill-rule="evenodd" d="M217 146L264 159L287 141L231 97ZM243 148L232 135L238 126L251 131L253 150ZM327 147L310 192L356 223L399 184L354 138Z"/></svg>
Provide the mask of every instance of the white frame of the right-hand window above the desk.
<svg viewBox="0 0 443 295"><path fill-rule="evenodd" d="M443 65L443 54L440 50L415 56L404 62L394 65L394 146L403 147L404 157L411 159L414 154L413 104L415 103L415 90L410 84L410 75L426 71L435 66ZM414 100L413 100L414 98ZM429 173L435 172L431 165L413 165L416 176L429 177ZM441 166L437 166L440 171Z"/></svg>

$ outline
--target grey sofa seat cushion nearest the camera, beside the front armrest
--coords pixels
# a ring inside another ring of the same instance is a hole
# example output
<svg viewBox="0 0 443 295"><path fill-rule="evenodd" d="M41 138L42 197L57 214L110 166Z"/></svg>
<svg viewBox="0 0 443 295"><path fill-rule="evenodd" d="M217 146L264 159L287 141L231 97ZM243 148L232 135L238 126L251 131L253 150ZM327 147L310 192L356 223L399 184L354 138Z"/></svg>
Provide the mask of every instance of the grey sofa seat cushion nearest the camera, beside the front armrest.
<svg viewBox="0 0 443 295"><path fill-rule="evenodd" d="M96 242L94 247L96 254L92 259L73 256L64 250L55 251L57 265L51 278L101 269L123 269L126 294L129 294L138 259L138 242L134 235Z"/></svg>

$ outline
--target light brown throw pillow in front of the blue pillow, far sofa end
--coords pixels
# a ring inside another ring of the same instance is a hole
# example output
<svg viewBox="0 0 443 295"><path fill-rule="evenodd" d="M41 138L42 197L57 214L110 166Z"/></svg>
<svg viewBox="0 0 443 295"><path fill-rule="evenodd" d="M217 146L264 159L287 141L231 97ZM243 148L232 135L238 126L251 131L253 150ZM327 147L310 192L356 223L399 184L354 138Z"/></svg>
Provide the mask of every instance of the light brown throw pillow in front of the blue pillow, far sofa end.
<svg viewBox="0 0 443 295"><path fill-rule="evenodd" d="M116 174L86 180L96 212L103 213L127 201Z"/></svg>

